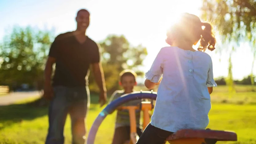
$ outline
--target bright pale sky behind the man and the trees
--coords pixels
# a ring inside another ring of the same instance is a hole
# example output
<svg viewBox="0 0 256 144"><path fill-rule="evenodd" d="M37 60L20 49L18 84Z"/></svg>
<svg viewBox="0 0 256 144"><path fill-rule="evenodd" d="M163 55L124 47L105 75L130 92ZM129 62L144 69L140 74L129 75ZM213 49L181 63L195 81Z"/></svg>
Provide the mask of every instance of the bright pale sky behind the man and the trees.
<svg viewBox="0 0 256 144"><path fill-rule="evenodd" d="M148 55L142 67L146 72L159 50L168 46L165 42L168 26L182 12L200 16L201 3L201 0L1 0L0 42L14 26L32 26L42 30L54 28L55 35L73 31L76 29L77 11L85 8L90 11L91 20L86 34L95 42L102 41L109 34L123 34L132 45L142 44L147 48ZM225 49L218 46L217 41L216 49ZM214 77L225 77L228 74L229 51L222 54L214 51L206 50L213 61ZM250 46L242 44L232 55L234 79L250 74L252 60Z"/></svg>

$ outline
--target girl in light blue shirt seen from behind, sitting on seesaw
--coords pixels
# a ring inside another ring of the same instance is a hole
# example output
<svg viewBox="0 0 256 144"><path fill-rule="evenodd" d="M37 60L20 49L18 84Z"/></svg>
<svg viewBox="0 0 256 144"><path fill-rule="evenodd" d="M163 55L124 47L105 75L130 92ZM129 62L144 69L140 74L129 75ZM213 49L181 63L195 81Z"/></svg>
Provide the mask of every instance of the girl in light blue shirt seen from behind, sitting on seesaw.
<svg viewBox="0 0 256 144"><path fill-rule="evenodd" d="M192 46L199 40L196 51ZM160 85L151 122L137 144L163 144L177 130L205 129L209 123L210 94L217 84L211 57L204 51L215 49L212 26L184 13L168 30L166 42L170 46L159 51L146 73L148 89Z"/></svg>

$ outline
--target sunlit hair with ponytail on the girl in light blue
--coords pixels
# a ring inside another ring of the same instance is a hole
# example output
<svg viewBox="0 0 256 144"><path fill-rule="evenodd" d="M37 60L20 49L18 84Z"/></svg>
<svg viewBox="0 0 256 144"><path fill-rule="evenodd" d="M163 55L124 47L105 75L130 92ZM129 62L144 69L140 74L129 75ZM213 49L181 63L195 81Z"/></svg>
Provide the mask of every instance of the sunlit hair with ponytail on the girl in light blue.
<svg viewBox="0 0 256 144"><path fill-rule="evenodd" d="M205 28L202 29L202 26ZM199 51L205 51L206 48L213 51L216 39L212 29L210 23L201 22L200 18L194 14L184 13L181 15L180 21L167 31L166 43L172 45L175 37L184 38L193 44L200 39Z"/></svg>

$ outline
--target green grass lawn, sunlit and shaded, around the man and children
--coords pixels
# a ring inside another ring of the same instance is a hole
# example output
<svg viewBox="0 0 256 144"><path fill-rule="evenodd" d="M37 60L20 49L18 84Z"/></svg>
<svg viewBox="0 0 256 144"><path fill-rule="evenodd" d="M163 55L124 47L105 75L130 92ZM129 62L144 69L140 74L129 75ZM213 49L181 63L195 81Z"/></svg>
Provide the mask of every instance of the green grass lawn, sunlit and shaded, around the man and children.
<svg viewBox="0 0 256 144"><path fill-rule="evenodd" d="M238 142L218 142L218 144L256 143L256 93L249 86L238 86L237 93L229 95L224 86L214 89L209 128L230 130L238 134ZM42 144L48 129L46 107L32 107L27 99L9 106L0 106L1 144ZM91 96L90 111L86 118L87 131L103 109L97 104L98 97ZM111 143L114 133L115 113L106 117L96 135L95 144ZM65 143L71 143L71 126L68 117L65 125Z"/></svg>

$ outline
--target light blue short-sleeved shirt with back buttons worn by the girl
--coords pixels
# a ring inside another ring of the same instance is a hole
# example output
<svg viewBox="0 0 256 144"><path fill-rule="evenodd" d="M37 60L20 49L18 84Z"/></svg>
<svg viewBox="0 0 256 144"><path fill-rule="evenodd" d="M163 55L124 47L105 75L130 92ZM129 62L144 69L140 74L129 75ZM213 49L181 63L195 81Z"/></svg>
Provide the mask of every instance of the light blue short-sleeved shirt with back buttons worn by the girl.
<svg viewBox="0 0 256 144"><path fill-rule="evenodd" d="M157 100L151 125L176 132L205 129L211 109L207 87L216 87L211 57L201 51L163 47L146 79L157 83Z"/></svg>

